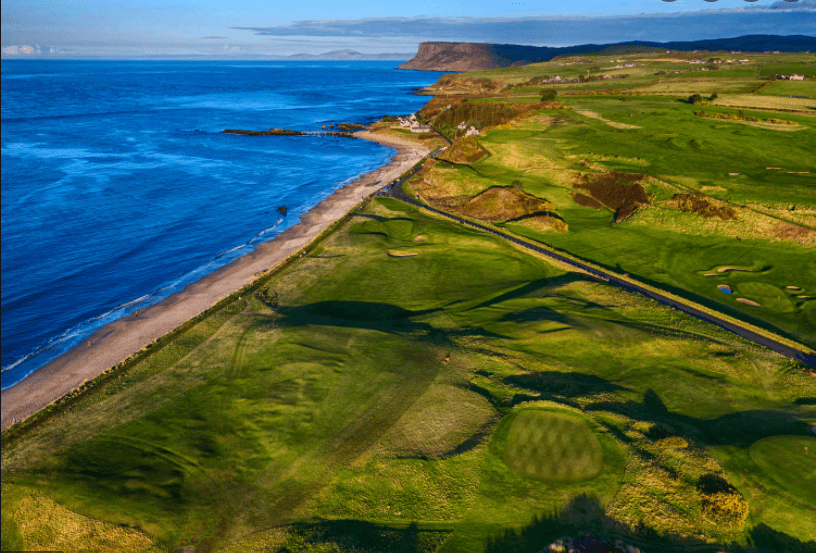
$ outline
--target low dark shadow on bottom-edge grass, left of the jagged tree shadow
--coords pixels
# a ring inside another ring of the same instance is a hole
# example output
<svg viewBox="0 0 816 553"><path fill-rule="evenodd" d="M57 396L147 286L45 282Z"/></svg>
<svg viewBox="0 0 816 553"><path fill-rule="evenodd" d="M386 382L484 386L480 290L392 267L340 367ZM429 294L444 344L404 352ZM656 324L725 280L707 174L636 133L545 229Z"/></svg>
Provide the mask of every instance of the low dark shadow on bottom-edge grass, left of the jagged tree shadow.
<svg viewBox="0 0 816 553"><path fill-rule="evenodd" d="M450 530L420 530L416 523L395 528L359 520L300 523L289 528L290 538L278 553L315 549L338 553L430 553L450 535Z"/></svg>

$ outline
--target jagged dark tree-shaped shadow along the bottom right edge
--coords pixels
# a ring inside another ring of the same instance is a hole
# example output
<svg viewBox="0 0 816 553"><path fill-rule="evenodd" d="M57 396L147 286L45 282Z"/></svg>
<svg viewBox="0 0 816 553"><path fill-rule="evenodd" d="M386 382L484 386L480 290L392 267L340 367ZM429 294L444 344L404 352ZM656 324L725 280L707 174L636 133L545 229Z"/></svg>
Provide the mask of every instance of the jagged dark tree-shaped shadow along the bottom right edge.
<svg viewBox="0 0 816 553"><path fill-rule="evenodd" d="M623 550L634 545L644 553L680 551L728 551L731 553L814 553L816 541L802 542L765 524L748 532L747 546L736 543L712 544L695 538L661 536L643 524L628 528L604 514L597 499L587 495L574 498L564 509L552 516L537 517L521 529L505 530L488 541L485 553L534 553L548 551L557 540L569 542L565 550L576 553L609 553L617 541ZM570 549L571 548L571 549Z"/></svg>

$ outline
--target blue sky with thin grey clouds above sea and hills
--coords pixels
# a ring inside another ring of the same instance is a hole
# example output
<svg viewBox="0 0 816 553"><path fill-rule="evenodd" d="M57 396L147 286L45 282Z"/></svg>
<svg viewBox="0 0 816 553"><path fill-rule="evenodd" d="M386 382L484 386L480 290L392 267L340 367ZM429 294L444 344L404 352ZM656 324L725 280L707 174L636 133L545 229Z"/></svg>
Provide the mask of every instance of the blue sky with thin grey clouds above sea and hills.
<svg viewBox="0 0 816 553"><path fill-rule="evenodd" d="M816 35L798 0L3 0L3 58L257 59L426 40L566 46Z"/></svg>

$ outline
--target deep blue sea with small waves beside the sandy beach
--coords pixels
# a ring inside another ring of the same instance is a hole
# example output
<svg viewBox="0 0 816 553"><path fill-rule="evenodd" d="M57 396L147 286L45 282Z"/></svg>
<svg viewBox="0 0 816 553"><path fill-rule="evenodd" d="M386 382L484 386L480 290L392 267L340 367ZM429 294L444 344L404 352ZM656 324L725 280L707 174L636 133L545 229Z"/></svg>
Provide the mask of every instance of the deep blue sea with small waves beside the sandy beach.
<svg viewBox="0 0 816 553"><path fill-rule="evenodd" d="M4 60L2 387L386 163L363 140L220 131L416 111L440 74L396 65Z"/></svg>

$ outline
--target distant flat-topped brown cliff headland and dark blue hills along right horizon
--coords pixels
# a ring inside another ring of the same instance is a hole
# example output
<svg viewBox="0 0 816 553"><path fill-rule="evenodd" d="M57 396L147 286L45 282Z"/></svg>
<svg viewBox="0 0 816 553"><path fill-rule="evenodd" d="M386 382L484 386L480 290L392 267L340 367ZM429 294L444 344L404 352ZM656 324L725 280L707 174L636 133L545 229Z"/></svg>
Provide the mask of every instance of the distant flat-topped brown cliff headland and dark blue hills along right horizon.
<svg viewBox="0 0 816 553"><path fill-rule="evenodd" d="M575 54L624 54L654 50L739 50L742 52L814 52L816 37L792 35L748 35L694 42L621 42L582 44L564 48L481 44L477 42L423 42L417 55L399 66L420 71L478 71L550 61Z"/></svg>

